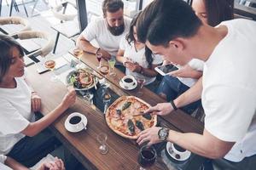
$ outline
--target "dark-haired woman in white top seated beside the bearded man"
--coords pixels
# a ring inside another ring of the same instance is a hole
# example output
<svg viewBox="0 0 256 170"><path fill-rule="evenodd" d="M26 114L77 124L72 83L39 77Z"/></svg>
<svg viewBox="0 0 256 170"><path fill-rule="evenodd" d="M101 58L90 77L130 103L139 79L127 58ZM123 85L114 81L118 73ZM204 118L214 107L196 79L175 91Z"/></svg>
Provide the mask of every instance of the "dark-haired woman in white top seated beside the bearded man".
<svg viewBox="0 0 256 170"><path fill-rule="evenodd" d="M147 88L155 91L156 84L153 82L155 82L157 72L154 71L154 67L160 65L162 59L159 55L152 55L144 43L137 41L137 16L131 20L129 33L121 39L116 59L125 65L126 75L145 78Z"/></svg>

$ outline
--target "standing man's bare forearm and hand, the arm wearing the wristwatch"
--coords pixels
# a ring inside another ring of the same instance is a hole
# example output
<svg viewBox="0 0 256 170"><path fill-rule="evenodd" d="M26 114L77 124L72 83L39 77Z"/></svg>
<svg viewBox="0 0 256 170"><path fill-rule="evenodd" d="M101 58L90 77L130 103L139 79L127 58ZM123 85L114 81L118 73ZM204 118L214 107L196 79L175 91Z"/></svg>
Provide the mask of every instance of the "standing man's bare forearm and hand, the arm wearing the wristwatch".
<svg viewBox="0 0 256 170"><path fill-rule="evenodd" d="M158 131L160 128L161 127L151 127L144 130L139 134L137 143L143 144L146 141L148 141L148 145L159 143L160 139L158 137ZM178 144L195 154L212 159L224 157L235 144L235 142L225 142L214 137L211 133L208 133L206 129L203 134L178 133L170 130L167 140L174 144Z"/></svg>

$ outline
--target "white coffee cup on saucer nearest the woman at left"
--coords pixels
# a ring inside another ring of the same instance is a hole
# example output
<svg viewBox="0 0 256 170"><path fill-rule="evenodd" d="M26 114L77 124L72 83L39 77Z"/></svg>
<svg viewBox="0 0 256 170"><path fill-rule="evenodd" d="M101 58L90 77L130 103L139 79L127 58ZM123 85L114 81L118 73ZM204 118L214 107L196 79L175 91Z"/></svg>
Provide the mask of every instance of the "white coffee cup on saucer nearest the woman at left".
<svg viewBox="0 0 256 170"><path fill-rule="evenodd" d="M74 112L67 116L67 130L72 131L72 132L79 132L83 129L86 129L87 125L87 118L86 116Z"/></svg>

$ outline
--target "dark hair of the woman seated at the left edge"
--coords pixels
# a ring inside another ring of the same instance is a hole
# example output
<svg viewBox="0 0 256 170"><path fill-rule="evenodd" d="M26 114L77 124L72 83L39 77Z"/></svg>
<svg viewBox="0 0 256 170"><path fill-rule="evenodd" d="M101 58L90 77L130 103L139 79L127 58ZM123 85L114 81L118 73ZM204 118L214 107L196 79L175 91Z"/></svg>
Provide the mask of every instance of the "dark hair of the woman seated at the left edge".
<svg viewBox="0 0 256 170"><path fill-rule="evenodd" d="M10 55L14 47L19 49L22 56L24 55L19 42L16 42L13 37L0 34L0 82L9 70L12 60Z"/></svg>

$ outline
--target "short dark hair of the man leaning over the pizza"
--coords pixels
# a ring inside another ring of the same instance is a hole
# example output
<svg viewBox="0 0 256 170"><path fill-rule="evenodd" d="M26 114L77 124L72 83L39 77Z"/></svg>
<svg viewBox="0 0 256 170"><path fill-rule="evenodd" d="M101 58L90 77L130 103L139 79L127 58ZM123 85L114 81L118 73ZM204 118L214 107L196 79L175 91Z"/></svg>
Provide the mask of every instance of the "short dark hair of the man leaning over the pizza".
<svg viewBox="0 0 256 170"><path fill-rule="evenodd" d="M188 3L182 0L154 0L137 20L141 42L167 46L173 38L193 37L201 26Z"/></svg>

